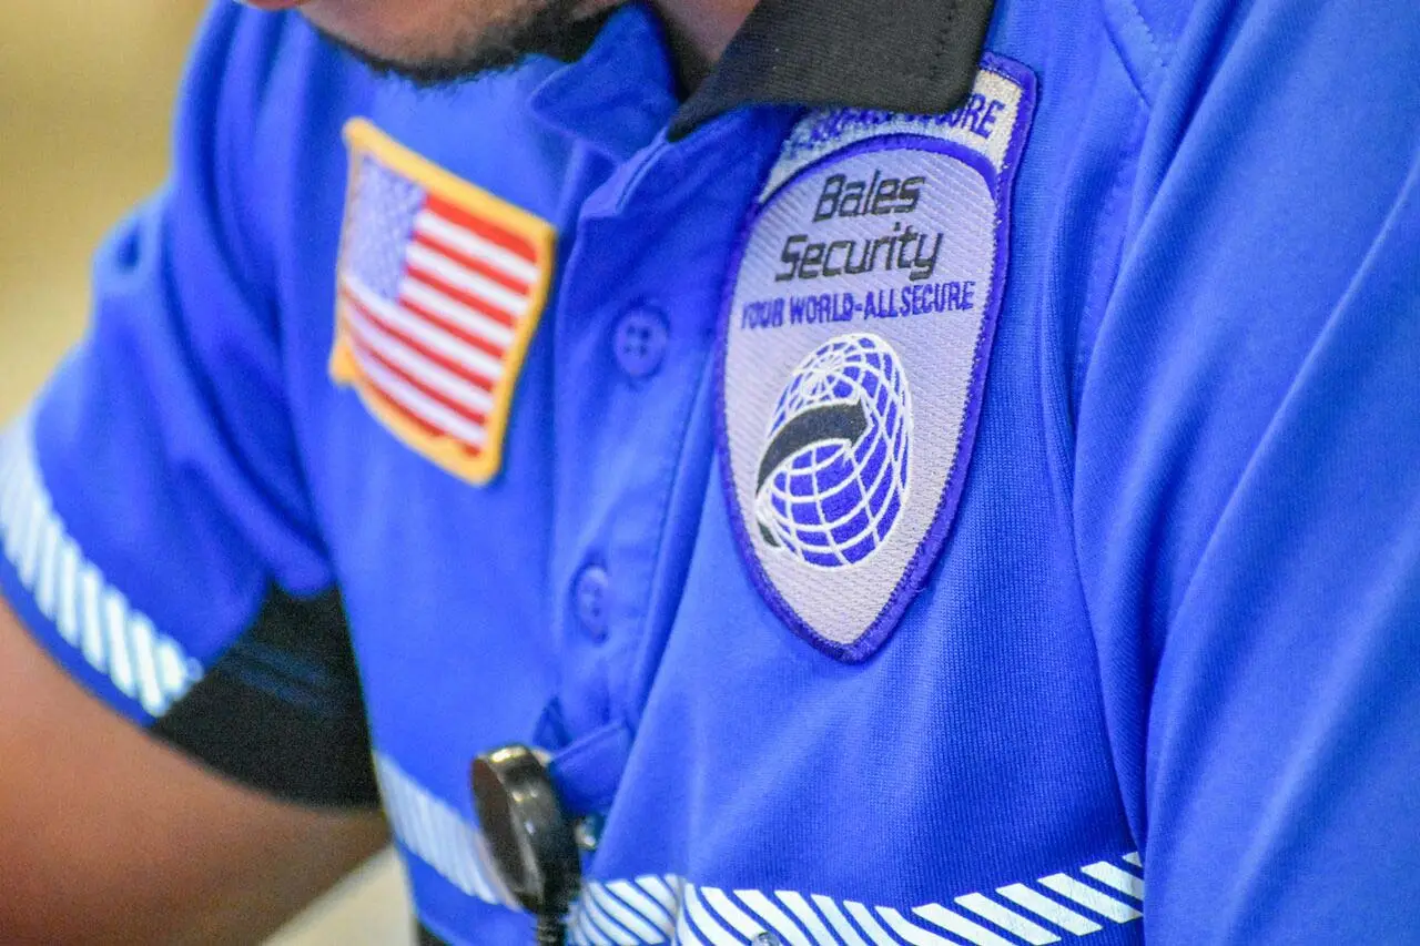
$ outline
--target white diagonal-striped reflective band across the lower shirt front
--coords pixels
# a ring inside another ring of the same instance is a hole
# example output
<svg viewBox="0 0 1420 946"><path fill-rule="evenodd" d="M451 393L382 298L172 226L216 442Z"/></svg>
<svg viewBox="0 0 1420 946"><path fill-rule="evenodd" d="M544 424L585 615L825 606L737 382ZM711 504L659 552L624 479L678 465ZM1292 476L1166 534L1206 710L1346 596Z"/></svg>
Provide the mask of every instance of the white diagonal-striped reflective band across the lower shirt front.
<svg viewBox="0 0 1420 946"><path fill-rule="evenodd" d="M388 756L375 754L375 770L395 837L409 854L469 896L517 909L473 824ZM568 918L568 942L1047 946L1140 919L1143 895L1137 852L907 909L795 891L700 886L673 874L642 875L588 881Z"/></svg>

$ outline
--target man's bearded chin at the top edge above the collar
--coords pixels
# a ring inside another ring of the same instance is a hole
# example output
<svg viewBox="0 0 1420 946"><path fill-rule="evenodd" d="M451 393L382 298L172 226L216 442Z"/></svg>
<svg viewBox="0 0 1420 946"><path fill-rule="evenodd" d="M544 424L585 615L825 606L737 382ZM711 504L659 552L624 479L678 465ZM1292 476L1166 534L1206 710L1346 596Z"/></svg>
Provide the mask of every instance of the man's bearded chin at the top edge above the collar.
<svg viewBox="0 0 1420 946"><path fill-rule="evenodd" d="M463 82L520 65L532 55L571 61L586 51L605 20L586 16L586 0L425 0L410 7L439 13L386 26L389 7L362 10L358 0L314 0L301 13L329 43L379 75L419 87ZM606 10L613 4L601 4ZM358 14L368 11L369 17Z"/></svg>

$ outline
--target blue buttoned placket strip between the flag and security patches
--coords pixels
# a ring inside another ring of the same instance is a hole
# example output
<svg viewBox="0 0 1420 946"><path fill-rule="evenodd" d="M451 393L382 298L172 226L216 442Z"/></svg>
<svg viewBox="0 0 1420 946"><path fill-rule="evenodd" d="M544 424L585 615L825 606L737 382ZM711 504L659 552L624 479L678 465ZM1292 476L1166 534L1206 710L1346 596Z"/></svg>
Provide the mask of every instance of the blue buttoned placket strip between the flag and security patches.
<svg viewBox="0 0 1420 946"><path fill-rule="evenodd" d="M561 678L540 733L577 814L612 808L635 751L710 474L726 266L780 126L746 112L657 139L577 226L554 338Z"/></svg>

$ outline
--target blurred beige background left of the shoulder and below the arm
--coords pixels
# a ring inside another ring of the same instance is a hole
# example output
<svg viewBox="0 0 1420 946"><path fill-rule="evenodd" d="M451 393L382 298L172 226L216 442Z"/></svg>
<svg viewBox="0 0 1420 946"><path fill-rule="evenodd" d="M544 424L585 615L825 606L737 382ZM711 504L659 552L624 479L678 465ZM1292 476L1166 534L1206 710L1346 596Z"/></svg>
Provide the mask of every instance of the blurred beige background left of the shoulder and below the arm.
<svg viewBox="0 0 1420 946"><path fill-rule="evenodd" d="M163 176L197 0L0 0L0 422L82 334L88 256ZM386 854L268 946L410 943Z"/></svg>

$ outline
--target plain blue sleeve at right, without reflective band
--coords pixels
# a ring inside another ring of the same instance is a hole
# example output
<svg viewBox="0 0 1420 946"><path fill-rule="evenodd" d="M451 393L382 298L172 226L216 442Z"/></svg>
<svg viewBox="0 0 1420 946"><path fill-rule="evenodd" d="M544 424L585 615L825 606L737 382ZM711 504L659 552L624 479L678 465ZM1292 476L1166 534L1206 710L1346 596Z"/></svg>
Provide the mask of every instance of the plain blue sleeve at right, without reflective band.
<svg viewBox="0 0 1420 946"><path fill-rule="evenodd" d="M1078 406L1150 943L1414 942L1420 13L1197 4Z"/></svg>

